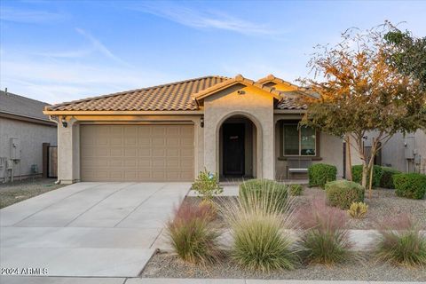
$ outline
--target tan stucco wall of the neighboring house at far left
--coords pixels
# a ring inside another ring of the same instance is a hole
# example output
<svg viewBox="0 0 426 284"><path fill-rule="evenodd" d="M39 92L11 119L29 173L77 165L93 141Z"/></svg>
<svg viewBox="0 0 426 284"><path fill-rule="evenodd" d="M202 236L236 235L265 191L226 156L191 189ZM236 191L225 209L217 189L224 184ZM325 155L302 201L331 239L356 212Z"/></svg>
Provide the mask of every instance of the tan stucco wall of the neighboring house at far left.
<svg viewBox="0 0 426 284"><path fill-rule="evenodd" d="M57 145L56 127L0 117L0 157L10 158L10 138L20 139L20 162L14 164L15 177L30 175L33 164L42 173L43 143ZM4 177L3 169L0 178Z"/></svg>

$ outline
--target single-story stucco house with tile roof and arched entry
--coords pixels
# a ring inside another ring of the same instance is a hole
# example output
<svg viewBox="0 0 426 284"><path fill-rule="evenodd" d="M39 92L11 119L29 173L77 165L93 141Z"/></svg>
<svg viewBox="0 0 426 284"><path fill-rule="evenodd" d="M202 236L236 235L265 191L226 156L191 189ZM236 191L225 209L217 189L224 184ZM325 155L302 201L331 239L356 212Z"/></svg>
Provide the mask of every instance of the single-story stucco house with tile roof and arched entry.
<svg viewBox="0 0 426 284"><path fill-rule="evenodd" d="M43 113L58 122L61 183L193 181L204 168L220 177L286 178L288 164L300 161L292 167L325 162L342 177L342 139L297 127L304 106L295 99L309 95L273 75L212 75Z"/></svg>

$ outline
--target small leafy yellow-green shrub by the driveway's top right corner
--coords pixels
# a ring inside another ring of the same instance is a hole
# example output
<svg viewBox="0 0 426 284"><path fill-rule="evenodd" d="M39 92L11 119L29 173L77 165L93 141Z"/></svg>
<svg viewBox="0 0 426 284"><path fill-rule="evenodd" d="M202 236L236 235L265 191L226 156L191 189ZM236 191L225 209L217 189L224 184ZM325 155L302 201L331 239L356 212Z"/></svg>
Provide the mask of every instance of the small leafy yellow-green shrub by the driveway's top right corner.
<svg viewBox="0 0 426 284"><path fill-rule="evenodd" d="M207 169L204 169L198 174L192 188L199 197L206 201L211 201L215 194L224 192L224 189L219 185L217 173L212 174Z"/></svg>

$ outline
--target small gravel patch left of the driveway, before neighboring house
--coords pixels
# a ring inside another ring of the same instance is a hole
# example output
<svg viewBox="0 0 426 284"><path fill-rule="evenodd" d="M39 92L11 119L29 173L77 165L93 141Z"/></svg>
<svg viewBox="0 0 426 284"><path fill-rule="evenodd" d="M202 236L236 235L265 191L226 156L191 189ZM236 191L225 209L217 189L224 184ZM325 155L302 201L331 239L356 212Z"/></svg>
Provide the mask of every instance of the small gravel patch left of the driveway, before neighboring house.
<svg viewBox="0 0 426 284"><path fill-rule="evenodd" d="M55 178L27 178L0 184L0 209L64 186L55 185L55 181Z"/></svg>

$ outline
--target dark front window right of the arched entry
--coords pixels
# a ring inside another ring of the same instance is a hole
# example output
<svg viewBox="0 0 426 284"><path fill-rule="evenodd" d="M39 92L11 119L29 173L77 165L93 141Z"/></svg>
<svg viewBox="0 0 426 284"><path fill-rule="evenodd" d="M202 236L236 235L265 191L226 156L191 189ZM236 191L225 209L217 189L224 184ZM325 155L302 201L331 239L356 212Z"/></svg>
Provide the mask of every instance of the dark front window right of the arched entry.
<svg viewBox="0 0 426 284"><path fill-rule="evenodd" d="M297 123L282 123L283 154L285 156L314 156L316 154L316 134L310 127L297 128Z"/></svg>

